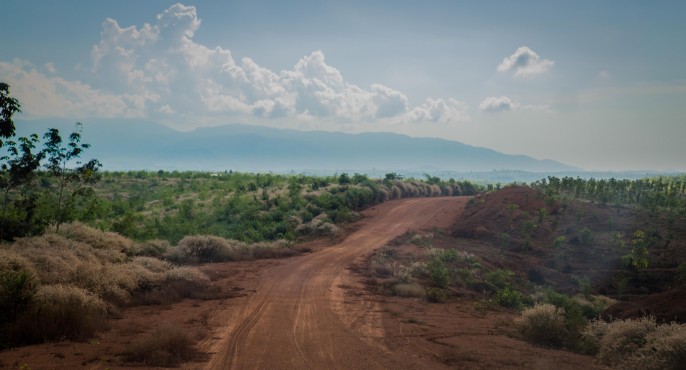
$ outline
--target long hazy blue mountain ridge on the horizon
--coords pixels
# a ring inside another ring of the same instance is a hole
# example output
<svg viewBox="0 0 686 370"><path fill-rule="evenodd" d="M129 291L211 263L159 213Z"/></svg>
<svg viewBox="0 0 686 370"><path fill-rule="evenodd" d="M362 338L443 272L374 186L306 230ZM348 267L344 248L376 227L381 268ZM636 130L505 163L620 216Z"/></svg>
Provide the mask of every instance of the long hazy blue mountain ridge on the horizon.
<svg viewBox="0 0 686 370"><path fill-rule="evenodd" d="M74 121L17 121L22 134L49 127L65 137ZM392 133L345 134L230 124L179 132L149 121L90 120L83 141L88 158L105 170L470 172L514 170L554 173L578 168L548 159L509 155L457 141Z"/></svg>

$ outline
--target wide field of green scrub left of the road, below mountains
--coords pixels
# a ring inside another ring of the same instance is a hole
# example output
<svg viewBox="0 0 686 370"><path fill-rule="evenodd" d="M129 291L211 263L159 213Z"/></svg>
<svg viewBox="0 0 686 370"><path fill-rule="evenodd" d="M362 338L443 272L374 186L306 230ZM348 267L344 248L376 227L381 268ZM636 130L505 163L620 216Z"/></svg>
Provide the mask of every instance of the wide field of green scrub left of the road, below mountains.
<svg viewBox="0 0 686 370"><path fill-rule="evenodd" d="M470 195L466 181L384 179L365 175L314 177L237 172L105 172L92 196L70 213L74 220L135 240L172 244L209 234L254 243L331 234L336 224L387 200ZM463 192L465 189L466 192Z"/></svg>

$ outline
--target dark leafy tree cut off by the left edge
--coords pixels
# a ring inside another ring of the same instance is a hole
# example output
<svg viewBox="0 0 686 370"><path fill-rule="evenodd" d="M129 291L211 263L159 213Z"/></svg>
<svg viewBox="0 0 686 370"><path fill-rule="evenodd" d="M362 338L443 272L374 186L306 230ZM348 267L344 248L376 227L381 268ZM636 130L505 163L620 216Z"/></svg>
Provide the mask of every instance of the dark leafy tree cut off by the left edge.
<svg viewBox="0 0 686 370"><path fill-rule="evenodd" d="M2 189L2 212L0 213L0 240L9 240L25 233L31 223L35 197L27 191L40 166L43 153L34 153L38 135L16 138L12 117L21 112L17 99L10 96L10 88L0 82L0 188ZM16 191L24 187L24 191ZM22 204L21 207L15 207ZM10 212L12 211L12 212Z"/></svg>

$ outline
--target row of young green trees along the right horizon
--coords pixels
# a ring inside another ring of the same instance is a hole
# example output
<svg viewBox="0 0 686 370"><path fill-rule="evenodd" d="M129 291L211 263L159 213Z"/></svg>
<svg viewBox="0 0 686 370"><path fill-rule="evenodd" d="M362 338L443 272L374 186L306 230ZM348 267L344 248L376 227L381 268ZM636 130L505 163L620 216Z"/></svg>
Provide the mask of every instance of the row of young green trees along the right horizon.
<svg viewBox="0 0 686 370"><path fill-rule="evenodd" d="M549 176L531 184L547 196L580 199L616 206L633 206L650 212L686 213L686 176L640 180L581 179Z"/></svg>

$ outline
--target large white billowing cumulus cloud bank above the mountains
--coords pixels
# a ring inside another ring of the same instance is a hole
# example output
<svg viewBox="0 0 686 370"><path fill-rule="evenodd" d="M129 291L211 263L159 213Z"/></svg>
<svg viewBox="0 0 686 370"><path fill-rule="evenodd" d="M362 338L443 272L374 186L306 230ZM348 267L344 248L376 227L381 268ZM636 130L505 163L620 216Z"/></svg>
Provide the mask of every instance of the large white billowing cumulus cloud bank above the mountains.
<svg viewBox="0 0 686 370"><path fill-rule="evenodd" d="M164 10L153 24L122 27L107 18L100 42L91 50L88 83L46 76L21 63L4 63L0 72L13 76L15 91L31 90L30 99L48 102L22 99L28 103L25 111L37 116L61 112L185 121L231 117L356 124L469 119L467 106L452 98L429 98L411 107L405 94L388 86L350 84L327 63L322 51L303 56L280 72L250 58L237 61L228 49L195 42L200 26L196 8L182 4ZM56 72L48 66L45 70Z"/></svg>

